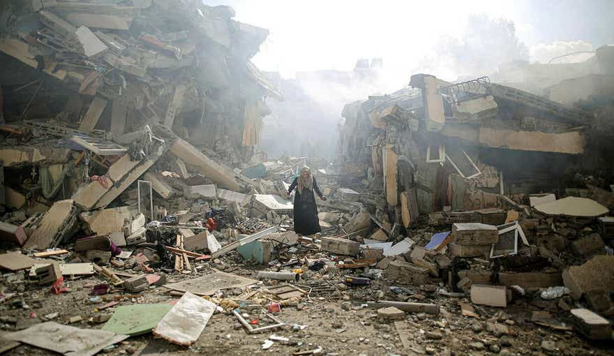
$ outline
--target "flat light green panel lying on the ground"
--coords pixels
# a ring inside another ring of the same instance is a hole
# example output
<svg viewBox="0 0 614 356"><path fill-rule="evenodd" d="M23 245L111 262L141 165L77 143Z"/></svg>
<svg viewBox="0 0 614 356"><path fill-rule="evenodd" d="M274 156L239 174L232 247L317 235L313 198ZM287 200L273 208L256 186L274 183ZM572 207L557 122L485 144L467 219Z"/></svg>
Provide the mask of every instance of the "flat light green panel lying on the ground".
<svg viewBox="0 0 614 356"><path fill-rule="evenodd" d="M109 319L103 330L120 335L136 336L151 332L172 304L134 304L119 306Z"/></svg>

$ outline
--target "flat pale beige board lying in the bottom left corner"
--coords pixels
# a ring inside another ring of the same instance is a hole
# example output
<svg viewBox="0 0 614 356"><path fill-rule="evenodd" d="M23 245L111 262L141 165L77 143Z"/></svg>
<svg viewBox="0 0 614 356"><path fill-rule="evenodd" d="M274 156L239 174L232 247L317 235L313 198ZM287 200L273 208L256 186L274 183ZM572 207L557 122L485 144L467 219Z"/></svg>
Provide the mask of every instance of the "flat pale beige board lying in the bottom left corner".
<svg viewBox="0 0 614 356"><path fill-rule="evenodd" d="M57 322L41 322L20 332L7 333L5 339L20 341L66 356L92 356L107 346L128 339L127 335L97 329L81 329ZM61 342L58 342L61 340Z"/></svg>

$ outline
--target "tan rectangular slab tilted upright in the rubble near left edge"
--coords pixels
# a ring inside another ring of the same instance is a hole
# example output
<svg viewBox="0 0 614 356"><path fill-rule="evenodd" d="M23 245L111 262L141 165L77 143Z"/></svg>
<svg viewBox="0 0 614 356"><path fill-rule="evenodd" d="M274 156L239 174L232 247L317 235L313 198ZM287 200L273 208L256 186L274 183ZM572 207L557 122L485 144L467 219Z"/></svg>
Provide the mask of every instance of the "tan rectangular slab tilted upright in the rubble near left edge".
<svg viewBox="0 0 614 356"><path fill-rule="evenodd" d="M77 225L73 200L59 200L43 215L38 228L32 232L24 249L45 250L59 244Z"/></svg>

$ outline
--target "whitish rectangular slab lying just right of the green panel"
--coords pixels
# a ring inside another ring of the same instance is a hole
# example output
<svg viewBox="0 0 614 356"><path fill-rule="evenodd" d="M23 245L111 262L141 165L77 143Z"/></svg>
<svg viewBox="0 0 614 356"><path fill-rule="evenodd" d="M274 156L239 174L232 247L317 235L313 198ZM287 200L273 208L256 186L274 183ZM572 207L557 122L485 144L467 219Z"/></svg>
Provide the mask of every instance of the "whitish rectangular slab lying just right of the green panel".
<svg viewBox="0 0 614 356"><path fill-rule="evenodd" d="M186 292L153 328L153 334L181 346L194 343L216 311L216 304Z"/></svg>

